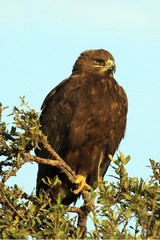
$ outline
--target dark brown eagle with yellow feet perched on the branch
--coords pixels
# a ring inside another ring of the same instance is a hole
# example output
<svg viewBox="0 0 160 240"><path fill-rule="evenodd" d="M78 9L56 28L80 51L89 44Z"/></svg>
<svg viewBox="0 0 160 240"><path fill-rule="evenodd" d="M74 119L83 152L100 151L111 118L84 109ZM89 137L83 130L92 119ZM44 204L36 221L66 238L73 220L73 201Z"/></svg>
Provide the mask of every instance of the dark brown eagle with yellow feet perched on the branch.
<svg viewBox="0 0 160 240"><path fill-rule="evenodd" d="M78 189L56 167L39 164L37 195L50 191L53 202L58 194L64 204L77 200L83 186L96 188L110 164L109 154L117 150L124 137L127 96L113 77L116 65L104 49L88 50L79 56L69 78L56 86L45 98L40 122L42 131L60 157L77 175ZM43 158L53 158L46 149L36 151ZM58 181L49 187L42 180Z"/></svg>

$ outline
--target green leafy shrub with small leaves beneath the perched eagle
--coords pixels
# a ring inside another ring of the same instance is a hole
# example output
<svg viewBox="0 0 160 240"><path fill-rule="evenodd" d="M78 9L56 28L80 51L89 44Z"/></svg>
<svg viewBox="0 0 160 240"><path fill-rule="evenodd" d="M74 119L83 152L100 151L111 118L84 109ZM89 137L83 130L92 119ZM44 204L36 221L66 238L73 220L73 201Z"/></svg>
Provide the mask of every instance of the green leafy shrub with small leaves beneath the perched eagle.
<svg viewBox="0 0 160 240"><path fill-rule="evenodd" d="M2 110L0 106L1 117ZM125 165L130 157L120 152L116 160L110 156L115 171L113 182L100 181L96 192L83 190L81 207L64 206L60 198L52 205L46 192L38 198L17 185L6 184L26 162L42 161L32 153L39 142L61 161L40 130L38 114L24 98L20 108L15 107L11 115L14 123L10 130L5 122L0 123L0 238L160 238L160 163L150 160L152 175L146 182L128 176ZM49 164L49 161L43 160L43 163ZM70 180L74 182L74 173ZM94 204L93 199L96 199ZM75 213L74 217L70 212ZM87 216L94 224L93 230L86 231Z"/></svg>

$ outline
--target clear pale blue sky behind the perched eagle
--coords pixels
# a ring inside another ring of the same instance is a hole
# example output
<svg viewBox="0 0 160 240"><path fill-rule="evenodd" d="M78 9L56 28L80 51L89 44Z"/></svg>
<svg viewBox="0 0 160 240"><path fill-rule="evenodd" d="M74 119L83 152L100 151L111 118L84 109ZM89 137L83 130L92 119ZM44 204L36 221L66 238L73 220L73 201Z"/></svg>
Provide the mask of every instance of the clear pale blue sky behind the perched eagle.
<svg viewBox="0 0 160 240"><path fill-rule="evenodd" d="M0 102L12 109L25 95L40 111L82 51L110 51L129 100L119 150L131 155L130 176L147 179L146 165L159 161L160 148L159 9L159 0L0 0ZM36 172L36 164L27 164L9 184L31 192Z"/></svg>

